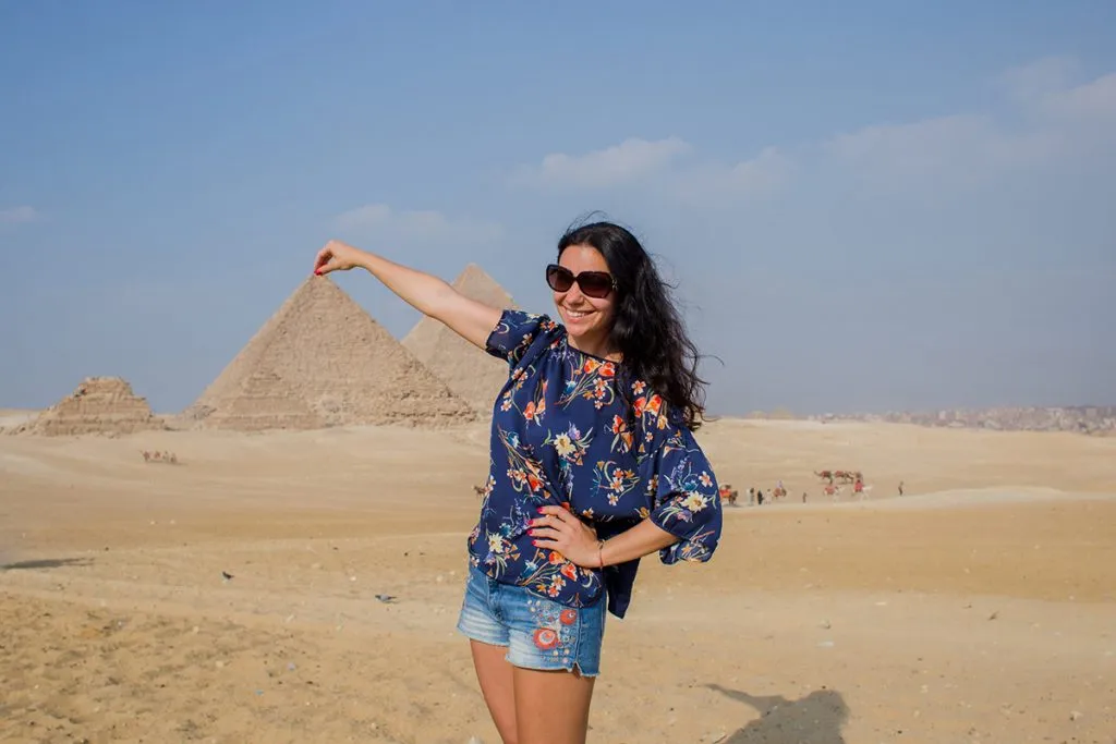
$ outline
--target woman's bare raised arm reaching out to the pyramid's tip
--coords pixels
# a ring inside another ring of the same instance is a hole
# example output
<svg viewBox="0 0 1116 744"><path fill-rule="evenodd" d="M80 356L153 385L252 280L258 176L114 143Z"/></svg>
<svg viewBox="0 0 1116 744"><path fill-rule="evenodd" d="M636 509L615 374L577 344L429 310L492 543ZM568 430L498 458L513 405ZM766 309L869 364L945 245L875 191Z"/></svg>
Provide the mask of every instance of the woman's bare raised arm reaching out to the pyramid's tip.
<svg viewBox="0 0 1116 744"><path fill-rule="evenodd" d="M500 321L502 308L491 308L472 300L437 277L337 240L329 241L318 251L314 273L320 276L357 267L367 270L415 310L442 321L482 349L489 334Z"/></svg>

